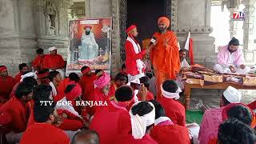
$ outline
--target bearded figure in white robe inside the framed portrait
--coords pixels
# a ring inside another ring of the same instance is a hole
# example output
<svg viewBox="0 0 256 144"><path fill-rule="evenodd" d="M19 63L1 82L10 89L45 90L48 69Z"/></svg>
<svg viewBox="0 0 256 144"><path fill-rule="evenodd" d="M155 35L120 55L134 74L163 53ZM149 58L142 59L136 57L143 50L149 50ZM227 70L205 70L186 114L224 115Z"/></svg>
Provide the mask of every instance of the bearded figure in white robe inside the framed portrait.
<svg viewBox="0 0 256 144"><path fill-rule="evenodd" d="M85 32L82 34L81 46L79 47L79 59L93 59L98 56L98 44L95 41L91 26L84 26Z"/></svg>

